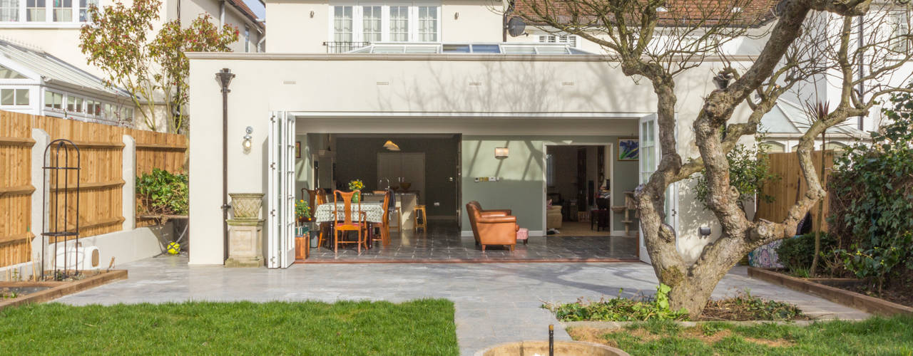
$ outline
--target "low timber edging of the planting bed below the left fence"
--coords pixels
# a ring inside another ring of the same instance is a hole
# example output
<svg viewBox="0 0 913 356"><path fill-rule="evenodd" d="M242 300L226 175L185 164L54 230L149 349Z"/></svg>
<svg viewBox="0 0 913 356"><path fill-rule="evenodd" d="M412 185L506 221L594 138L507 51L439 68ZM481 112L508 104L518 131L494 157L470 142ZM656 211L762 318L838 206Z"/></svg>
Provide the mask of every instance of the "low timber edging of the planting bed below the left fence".
<svg viewBox="0 0 913 356"><path fill-rule="evenodd" d="M83 290L89 290L102 284L110 283L114 280L126 280L127 270L109 270L101 271L100 274L89 277L85 280L72 281L23 281L23 282L0 282L0 288L4 287L50 287L47 290L37 291L26 294L19 298L0 300L0 310L7 307L19 305L40 303L47 300L55 300L68 294L73 294Z"/></svg>

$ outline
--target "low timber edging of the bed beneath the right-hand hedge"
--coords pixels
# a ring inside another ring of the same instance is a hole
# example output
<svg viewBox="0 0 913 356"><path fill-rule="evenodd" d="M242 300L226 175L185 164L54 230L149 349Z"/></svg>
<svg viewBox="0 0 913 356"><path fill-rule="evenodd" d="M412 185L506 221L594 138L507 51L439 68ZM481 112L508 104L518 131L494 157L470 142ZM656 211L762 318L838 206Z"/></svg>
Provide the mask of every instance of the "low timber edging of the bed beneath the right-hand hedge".
<svg viewBox="0 0 913 356"><path fill-rule="evenodd" d="M749 267L748 276L773 284L779 284L791 290L799 290L805 293L813 294L824 298L825 300L831 300L835 303L843 304L847 307L855 308L858 310L864 310L873 314L885 316L891 316L895 314L913 315L913 308L905 305L870 297L865 294L856 293L855 291L841 290L839 288L825 286L824 284L816 283L813 280L803 280L801 278L795 278L772 270ZM834 279L834 281L843 280L845 279Z"/></svg>

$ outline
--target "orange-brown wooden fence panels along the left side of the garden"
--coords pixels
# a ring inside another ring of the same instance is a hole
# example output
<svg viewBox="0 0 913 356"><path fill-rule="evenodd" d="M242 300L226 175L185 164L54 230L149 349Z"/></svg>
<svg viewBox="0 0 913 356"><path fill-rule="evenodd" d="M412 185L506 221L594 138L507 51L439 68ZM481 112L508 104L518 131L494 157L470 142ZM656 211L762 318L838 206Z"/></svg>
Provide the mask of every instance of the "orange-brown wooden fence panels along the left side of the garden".
<svg viewBox="0 0 913 356"><path fill-rule="evenodd" d="M86 123L56 117L37 117L0 110L0 267L31 259L29 240L31 225L40 228L42 221L31 221L32 194L43 194L43 187L32 187L31 155L35 141L32 128L47 132L51 140L67 138L79 147L79 237L85 238L119 231L124 220L123 135L136 140L136 172L152 168L184 172L187 139L183 135L135 130L124 127ZM63 152L61 152L63 153ZM34 162L43 164L43 162ZM61 162L62 163L62 162ZM77 183L75 174L49 175L50 185ZM131 178L135 179L135 178ZM67 209L74 221L75 207L66 208L64 196L50 201L50 209ZM65 196L74 201L75 190ZM53 221L48 221L53 223ZM149 226L154 221L138 221ZM58 221L62 224L62 221Z"/></svg>

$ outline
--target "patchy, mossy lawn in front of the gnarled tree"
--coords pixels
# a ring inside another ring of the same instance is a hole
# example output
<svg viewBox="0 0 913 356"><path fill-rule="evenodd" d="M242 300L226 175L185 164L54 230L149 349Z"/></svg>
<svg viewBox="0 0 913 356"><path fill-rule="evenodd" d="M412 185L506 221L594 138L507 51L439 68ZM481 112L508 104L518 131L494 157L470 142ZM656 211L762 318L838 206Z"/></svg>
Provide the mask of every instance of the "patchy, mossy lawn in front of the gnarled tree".
<svg viewBox="0 0 913 356"><path fill-rule="evenodd" d="M823 321L809 326L736 326L711 322L683 328L669 320L614 331L569 330L574 340L607 344L632 355L909 355L913 317Z"/></svg>

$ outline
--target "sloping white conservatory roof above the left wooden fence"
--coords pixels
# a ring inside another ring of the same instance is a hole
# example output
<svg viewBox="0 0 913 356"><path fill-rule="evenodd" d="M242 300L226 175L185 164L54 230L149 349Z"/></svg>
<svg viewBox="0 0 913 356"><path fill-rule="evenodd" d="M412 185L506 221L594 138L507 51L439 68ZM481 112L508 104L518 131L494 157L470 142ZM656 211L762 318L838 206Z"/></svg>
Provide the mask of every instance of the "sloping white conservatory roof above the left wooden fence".
<svg viewBox="0 0 913 356"><path fill-rule="evenodd" d="M10 62L9 65L22 68L17 71L21 72L21 75L29 76L45 83L58 83L109 95L130 96L129 93L120 88L106 86L104 79L93 76L89 72L70 65L56 56L51 56L47 52L26 46L18 46L4 40L0 40L0 62ZM9 69L16 71L12 67Z"/></svg>

